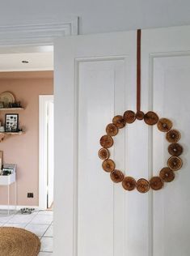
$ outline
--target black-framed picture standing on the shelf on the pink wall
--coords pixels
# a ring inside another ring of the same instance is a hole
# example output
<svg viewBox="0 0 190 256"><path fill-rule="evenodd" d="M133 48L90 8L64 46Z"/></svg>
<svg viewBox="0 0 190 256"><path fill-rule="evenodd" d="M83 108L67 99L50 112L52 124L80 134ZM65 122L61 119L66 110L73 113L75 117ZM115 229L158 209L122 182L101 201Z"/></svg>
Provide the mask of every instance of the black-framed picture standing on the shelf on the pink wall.
<svg viewBox="0 0 190 256"><path fill-rule="evenodd" d="M17 132L19 128L19 114L18 113L6 113L5 131Z"/></svg>

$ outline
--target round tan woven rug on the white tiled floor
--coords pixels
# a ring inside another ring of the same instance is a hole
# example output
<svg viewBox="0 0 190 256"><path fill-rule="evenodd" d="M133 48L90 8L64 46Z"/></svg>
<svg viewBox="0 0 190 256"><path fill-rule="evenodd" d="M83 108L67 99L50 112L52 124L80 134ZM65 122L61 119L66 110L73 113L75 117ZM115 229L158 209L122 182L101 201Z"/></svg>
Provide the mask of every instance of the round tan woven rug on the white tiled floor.
<svg viewBox="0 0 190 256"><path fill-rule="evenodd" d="M0 228L0 255L37 256L40 239L23 228Z"/></svg>

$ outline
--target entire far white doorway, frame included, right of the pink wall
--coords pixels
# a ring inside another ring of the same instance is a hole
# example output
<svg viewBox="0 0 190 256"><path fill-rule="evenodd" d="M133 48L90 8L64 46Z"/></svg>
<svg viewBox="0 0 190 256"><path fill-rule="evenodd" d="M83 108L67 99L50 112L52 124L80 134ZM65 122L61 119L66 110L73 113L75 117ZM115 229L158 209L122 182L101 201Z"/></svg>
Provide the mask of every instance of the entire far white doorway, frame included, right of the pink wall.
<svg viewBox="0 0 190 256"><path fill-rule="evenodd" d="M54 124L53 95L39 96L39 207L53 207Z"/></svg>

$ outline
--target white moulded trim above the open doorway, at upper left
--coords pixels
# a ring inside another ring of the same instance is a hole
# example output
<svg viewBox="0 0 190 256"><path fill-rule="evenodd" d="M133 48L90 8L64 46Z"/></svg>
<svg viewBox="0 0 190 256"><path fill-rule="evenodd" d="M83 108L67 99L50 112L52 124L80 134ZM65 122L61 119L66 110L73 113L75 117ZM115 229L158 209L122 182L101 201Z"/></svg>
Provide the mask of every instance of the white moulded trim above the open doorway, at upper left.
<svg viewBox="0 0 190 256"><path fill-rule="evenodd" d="M78 35L78 17L60 23L0 26L0 45L53 45L60 36Z"/></svg>

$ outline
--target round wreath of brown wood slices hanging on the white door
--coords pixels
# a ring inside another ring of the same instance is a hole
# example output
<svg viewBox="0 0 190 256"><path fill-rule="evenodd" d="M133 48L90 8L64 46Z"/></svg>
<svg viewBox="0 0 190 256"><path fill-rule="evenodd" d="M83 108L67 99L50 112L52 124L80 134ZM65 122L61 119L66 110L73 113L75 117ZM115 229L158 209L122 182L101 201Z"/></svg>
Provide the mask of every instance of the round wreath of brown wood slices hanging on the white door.
<svg viewBox="0 0 190 256"><path fill-rule="evenodd" d="M171 157L167 160L167 167L160 170L158 176L151 177L149 181L145 178L135 180L133 177L125 176L123 172L116 169L115 162L110 159L109 147L113 145L113 138L118 134L119 130L125 127L127 124L132 124L135 120L144 120L149 126L157 124L158 130L166 133L167 142L170 143L168 152ZM171 129L173 126L171 120L167 118L159 118L156 113L149 111L144 114L141 111L134 113L132 110L125 111L123 116L117 115L113 117L112 123L106 126L106 133L99 140L102 148L99 149L98 155L103 160L102 167L107 173L110 173L110 177L115 183L122 183L125 190L131 191L135 188L140 193L146 193L150 190L161 190L164 182L171 182L175 178L175 171L181 169L183 162L179 156L183 153L183 147L178 143L180 139L179 130Z"/></svg>

